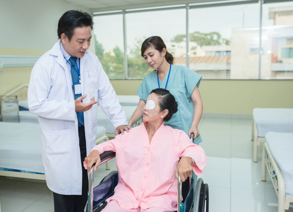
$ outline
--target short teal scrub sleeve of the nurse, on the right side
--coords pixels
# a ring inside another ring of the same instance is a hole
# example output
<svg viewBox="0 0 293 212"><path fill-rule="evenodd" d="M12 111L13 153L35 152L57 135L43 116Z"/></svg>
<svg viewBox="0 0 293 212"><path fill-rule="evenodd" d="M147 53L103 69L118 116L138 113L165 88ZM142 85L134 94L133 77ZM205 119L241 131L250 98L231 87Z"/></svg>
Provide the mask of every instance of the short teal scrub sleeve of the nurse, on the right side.
<svg viewBox="0 0 293 212"><path fill-rule="evenodd" d="M202 76L200 76L198 73L195 71L186 68L184 70L184 79L185 79L185 86L187 89L187 97L191 97L191 93L193 92L193 89L195 86L199 88L200 86L200 81L201 81Z"/></svg>

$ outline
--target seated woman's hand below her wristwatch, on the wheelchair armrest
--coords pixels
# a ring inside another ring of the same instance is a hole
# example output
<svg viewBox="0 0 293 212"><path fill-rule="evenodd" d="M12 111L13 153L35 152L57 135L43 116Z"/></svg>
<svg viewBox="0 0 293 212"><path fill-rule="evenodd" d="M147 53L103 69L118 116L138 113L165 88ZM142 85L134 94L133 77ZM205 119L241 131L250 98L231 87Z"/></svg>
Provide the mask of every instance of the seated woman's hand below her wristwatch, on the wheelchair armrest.
<svg viewBox="0 0 293 212"><path fill-rule="evenodd" d="M175 169L175 177L178 178L178 174L182 182L184 182L189 175L192 174L192 160L190 157L183 157L180 159Z"/></svg>

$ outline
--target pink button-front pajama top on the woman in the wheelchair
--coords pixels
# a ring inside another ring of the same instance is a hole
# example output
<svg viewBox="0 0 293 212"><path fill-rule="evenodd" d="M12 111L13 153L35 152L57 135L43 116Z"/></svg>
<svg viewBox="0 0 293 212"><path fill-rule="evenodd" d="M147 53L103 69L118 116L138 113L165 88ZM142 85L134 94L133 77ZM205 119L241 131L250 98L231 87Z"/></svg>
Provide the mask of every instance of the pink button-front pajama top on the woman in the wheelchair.
<svg viewBox="0 0 293 212"><path fill-rule="evenodd" d="M190 141L186 133L162 124L151 143L144 124L124 135L100 143L93 150L101 153L116 152L119 183L115 194L107 199L116 200L121 208L143 209L160 207L177 210L177 178L175 168L181 157L194 159L193 171L200 175L207 163L203 149Z"/></svg>

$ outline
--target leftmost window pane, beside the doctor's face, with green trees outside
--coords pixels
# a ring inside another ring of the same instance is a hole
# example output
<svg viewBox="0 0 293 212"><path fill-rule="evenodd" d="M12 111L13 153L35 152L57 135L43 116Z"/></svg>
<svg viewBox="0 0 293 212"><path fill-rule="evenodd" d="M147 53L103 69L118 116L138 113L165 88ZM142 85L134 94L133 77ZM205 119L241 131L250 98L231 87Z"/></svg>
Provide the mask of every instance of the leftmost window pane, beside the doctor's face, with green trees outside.
<svg viewBox="0 0 293 212"><path fill-rule="evenodd" d="M96 55L110 79L125 78L123 16L94 16Z"/></svg>

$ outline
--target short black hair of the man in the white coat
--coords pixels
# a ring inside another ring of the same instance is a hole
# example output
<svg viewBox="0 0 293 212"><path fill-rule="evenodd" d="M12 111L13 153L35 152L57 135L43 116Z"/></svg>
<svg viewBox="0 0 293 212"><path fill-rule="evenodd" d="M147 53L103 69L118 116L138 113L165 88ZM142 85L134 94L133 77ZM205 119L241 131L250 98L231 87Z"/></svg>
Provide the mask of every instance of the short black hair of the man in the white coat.
<svg viewBox="0 0 293 212"><path fill-rule="evenodd" d="M57 29L58 38L61 39L61 35L65 33L70 41L71 37L74 35L75 28L88 26L93 30L93 17L89 13L78 10L69 10L59 19Z"/></svg>

